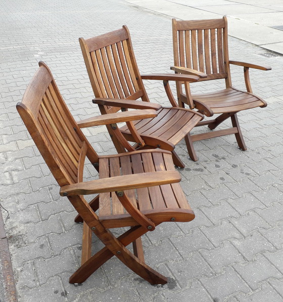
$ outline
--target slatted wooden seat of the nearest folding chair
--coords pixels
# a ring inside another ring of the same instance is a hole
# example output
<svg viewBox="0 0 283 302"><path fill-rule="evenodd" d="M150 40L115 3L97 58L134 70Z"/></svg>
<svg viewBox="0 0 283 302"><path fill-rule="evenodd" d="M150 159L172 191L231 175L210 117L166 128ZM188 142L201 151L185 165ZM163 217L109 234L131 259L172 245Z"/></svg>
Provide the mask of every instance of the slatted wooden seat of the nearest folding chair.
<svg viewBox="0 0 283 302"><path fill-rule="evenodd" d="M134 153L117 154L115 157L101 156L99 159L100 178L130 175L142 172L174 171L172 155L168 151L143 150ZM195 215L188 204L179 183L161 185L124 192L133 205L154 223L165 221L187 222ZM127 213L115 193L101 193L99 221L106 228L137 225Z"/></svg>

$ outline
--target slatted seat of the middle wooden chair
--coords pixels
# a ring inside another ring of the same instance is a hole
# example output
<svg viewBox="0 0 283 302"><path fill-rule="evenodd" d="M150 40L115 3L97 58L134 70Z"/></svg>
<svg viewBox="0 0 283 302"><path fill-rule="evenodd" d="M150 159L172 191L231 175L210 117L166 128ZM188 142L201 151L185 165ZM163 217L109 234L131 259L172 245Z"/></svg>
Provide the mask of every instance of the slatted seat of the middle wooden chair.
<svg viewBox="0 0 283 302"><path fill-rule="evenodd" d="M161 146L163 149L172 151L175 145L192 130L202 117L194 112L174 107L162 107L157 117L134 121L137 132L147 145L157 147L161 142L168 141L172 146ZM182 126L180 126L182 125ZM127 126L120 128L129 141L134 141ZM130 140L132 139L132 140ZM160 142L160 141L161 142ZM155 143L152 143L154 142Z"/></svg>

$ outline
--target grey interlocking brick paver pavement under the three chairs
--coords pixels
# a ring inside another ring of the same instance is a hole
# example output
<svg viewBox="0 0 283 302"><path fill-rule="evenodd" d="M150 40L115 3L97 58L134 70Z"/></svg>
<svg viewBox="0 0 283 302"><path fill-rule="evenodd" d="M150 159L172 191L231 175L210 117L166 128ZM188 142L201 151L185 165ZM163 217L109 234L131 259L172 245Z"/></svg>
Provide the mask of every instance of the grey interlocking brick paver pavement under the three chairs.
<svg viewBox="0 0 283 302"><path fill-rule="evenodd" d="M246 152L233 136L195 143L198 162L188 158L184 142L177 146L186 164L181 185L196 219L163 224L144 238L148 264L168 284L152 286L112 258L75 286L68 279L79 266L82 226L73 222L75 212L59 196L15 105L42 60L75 118L96 114L78 37L126 24L141 73L167 72L171 21L122 0L3 0L0 22L1 205L19 301L283 301L283 57L229 39L230 59L272 66L251 71L254 92L268 107L239 114ZM244 89L242 68L232 68L233 85ZM162 83L146 86L152 101L168 104ZM85 133L100 154L115 152L105 127ZM93 176L88 165L85 179Z"/></svg>

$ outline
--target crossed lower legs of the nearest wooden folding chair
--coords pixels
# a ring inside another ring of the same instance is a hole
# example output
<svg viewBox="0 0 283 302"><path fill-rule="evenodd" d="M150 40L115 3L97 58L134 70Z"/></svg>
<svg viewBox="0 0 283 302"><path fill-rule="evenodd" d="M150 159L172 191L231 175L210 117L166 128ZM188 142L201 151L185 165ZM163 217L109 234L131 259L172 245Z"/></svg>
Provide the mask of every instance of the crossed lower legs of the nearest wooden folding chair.
<svg viewBox="0 0 283 302"><path fill-rule="evenodd" d="M98 209L99 195L89 202L93 210ZM77 215L75 222L83 222L80 215ZM82 246L82 263L80 268L70 277L70 283L82 283L93 272L99 269L106 263L113 255L117 256L134 273L144 278L151 284L166 284L167 278L149 267L145 263L143 246L141 243L141 236L148 232L145 227L134 226L116 238L108 229L104 228L99 222L96 227L91 229L84 223L84 235ZM155 224L156 226L158 224ZM99 252L90 256L91 234L96 236L105 244ZM131 253L126 246L133 244L133 253Z"/></svg>

